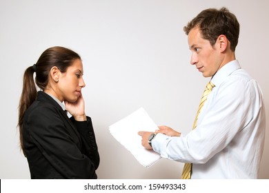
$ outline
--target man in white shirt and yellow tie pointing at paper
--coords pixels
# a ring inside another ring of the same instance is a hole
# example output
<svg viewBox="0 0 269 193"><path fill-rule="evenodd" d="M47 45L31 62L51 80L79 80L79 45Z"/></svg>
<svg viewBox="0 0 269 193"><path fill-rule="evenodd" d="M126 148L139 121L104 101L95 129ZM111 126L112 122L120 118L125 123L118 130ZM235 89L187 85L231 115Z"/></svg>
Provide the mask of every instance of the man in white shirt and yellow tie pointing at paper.
<svg viewBox="0 0 269 193"><path fill-rule="evenodd" d="M207 9L183 29L191 64L203 77L212 77L207 94L190 133L160 126L156 133L139 132L142 145L164 158L188 163L183 179L257 179L265 110L258 83L235 58L237 18L226 8Z"/></svg>

